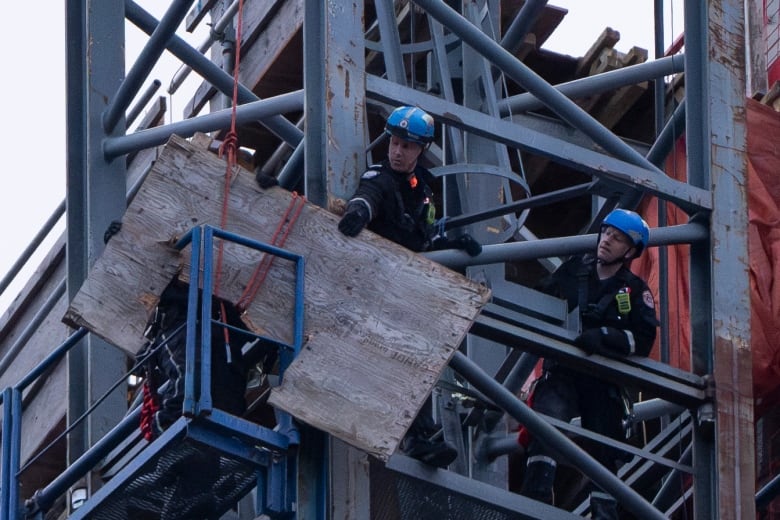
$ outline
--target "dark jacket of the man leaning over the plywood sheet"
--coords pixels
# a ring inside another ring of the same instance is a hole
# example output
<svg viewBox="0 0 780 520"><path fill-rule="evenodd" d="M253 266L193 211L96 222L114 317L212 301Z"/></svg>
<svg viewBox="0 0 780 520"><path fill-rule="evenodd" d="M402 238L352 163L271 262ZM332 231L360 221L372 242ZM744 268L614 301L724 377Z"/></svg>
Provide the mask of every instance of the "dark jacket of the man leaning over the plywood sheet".
<svg viewBox="0 0 780 520"><path fill-rule="evenodd" d="M413 173L416 187L409 182L409 174L394 171L387 160L372 165L361 176L351 200L365 201L370 207L368 229L419 253L431 249L435 234L429 222L433 174L419 165Z"/></svg>

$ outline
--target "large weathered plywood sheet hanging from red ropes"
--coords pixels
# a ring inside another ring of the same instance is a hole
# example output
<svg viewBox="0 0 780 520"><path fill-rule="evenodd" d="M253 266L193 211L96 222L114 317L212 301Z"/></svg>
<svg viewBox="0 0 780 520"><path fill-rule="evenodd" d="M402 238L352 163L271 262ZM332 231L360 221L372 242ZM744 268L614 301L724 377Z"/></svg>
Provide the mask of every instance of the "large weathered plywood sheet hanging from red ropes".
<svg viewBox="0 0 780 520"><path fill-rule="evenodd" d="M173 136L63 321L130 354L162 289L189 282L193 226L218 227L225 162ZM293 197L261 190L240 170L226 231L270 243ZM382 460L395 451L490 291L369 231L339 233L338 217L306 204L284 249L305 261L304 344L269 402ZM261 255L224 245L219 295L241 296ZM277 258L247 309L247 327L292 342L294 271Z"/></svg>

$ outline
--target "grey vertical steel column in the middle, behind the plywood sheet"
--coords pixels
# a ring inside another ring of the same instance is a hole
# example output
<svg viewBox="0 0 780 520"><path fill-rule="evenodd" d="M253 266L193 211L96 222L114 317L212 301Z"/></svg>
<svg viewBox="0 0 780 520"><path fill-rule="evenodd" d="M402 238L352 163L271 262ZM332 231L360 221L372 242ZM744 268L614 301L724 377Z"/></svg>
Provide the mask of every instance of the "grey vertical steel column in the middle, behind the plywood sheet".
<svg viewBox="0 0 780 520"><path fill-rule="evenodd" d="M363 0L306 0L304 6L305 188L307 198L323 207L351 196L365 169L363 11ZM324 450L328 462L322 460ZM316 515L327 496L334 518L368 518L367 467L365 454L304 429L299 514L322 518Z"/></svg>

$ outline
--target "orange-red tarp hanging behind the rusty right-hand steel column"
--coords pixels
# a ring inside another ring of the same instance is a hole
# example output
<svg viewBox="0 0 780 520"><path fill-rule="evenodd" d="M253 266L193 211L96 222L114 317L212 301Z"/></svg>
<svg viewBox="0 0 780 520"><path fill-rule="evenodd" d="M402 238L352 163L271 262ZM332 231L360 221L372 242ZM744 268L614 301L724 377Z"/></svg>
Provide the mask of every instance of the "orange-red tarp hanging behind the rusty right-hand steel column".
<svg viewBox="0 0 780 520"><path fill-rule="evenodd" d="M755 417L780 404L780 113L747 100L748 248L750 254L751 348ZM686 179L685 141L680 139L666 164L667 173ZM688 217L669 208L667 224L684 224ZM658 201L639 209L650 227L658 225ZM688 246L669 246L670 363L690 370L690 305ZM650 248L632 269L648 280L658 295L658 249ZM775 285L775 280L778 285ZM717 280L714 282L717 283ZM657 298L656 298L657 301ZM652 357L658 359L658 347Z"/></svg>

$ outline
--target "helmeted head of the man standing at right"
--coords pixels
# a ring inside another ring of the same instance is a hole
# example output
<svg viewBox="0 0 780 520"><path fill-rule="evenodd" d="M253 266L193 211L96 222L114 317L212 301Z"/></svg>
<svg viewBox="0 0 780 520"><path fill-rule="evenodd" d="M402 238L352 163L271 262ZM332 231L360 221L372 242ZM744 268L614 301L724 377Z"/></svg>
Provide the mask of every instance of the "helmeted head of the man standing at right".
<svg viewBox="0 0 780 520"><path fill-rule="evenodd" d="M650 228L642 217L615 209L601 222L596 256L603 264L627 262L642 254L649 239Z"/></svg>

